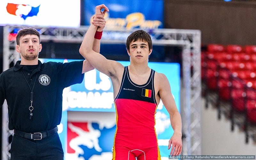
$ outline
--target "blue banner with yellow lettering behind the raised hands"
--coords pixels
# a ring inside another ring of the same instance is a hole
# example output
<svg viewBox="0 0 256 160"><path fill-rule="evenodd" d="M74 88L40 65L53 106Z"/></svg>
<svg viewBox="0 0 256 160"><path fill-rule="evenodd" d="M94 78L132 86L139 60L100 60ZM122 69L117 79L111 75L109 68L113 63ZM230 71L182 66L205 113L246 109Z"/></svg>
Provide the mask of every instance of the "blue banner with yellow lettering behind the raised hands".
<svg viewBox="0 0 256 160"><path fill-rule="evenodd" d="M163 0L84 0L84 25L90 25L95 6L105 4L107 28L163 28Z"/></svg>

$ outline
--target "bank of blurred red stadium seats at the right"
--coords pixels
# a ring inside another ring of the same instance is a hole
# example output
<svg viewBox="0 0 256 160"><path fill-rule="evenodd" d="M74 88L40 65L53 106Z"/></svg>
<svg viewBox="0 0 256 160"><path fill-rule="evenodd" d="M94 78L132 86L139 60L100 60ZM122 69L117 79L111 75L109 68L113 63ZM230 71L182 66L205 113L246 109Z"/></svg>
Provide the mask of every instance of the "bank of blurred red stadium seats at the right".
<svg viewBox="0 0 256 160"><path fill-rule="evenodd" d="M206 104L209 100L215 103L219 119L221 112L227 113L221 105L231 106L231 130L234 124L241 126L247 143L249 125L256 125L256 45L209 44L202 60Z"/></svg>

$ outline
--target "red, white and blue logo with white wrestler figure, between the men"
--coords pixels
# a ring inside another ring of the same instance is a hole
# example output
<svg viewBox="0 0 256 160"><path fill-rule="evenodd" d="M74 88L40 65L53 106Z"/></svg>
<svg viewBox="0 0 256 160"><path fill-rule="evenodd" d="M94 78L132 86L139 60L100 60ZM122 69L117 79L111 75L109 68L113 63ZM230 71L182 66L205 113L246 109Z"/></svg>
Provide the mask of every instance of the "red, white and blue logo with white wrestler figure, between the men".
<svg viewBox="0 0 256 160"><path fill-rule="evenodd" d="M100 117L98 117L100 118ZM116 125L99 122L69 122L67 159L111 159Z"/></svg>

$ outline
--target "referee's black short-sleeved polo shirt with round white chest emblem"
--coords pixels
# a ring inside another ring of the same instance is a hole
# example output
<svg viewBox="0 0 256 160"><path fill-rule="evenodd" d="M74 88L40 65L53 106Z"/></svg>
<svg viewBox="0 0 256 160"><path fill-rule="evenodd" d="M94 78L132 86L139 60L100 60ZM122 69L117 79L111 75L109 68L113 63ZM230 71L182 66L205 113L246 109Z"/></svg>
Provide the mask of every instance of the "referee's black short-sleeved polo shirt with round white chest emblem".
<svg viewBox="0 0 256 160"><path fill-rule="evenodd" d="M62 114L62 91L65 87L82 83L83 61L69 63L41 63L28 72L17 61L15 66L0 75L0 106L7 101L9 129L39 132L60 124ZM23 74L22 74L23 72ZM24 76L27 81L25 80ZM33 116L29 119L30 93L33 89ZM35 84L35 85L34 85Z"/></svg>

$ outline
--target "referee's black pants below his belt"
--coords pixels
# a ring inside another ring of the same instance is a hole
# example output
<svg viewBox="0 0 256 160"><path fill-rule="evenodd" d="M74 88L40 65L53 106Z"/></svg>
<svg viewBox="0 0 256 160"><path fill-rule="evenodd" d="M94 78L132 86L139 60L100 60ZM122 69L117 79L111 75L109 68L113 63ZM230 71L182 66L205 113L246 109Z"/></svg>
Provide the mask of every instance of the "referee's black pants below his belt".
<svg viewBox="0 0 256 160"><path fill-rule="evenodd" d="M12 137L11 160L63 160L59 134L42 140L28 140L16 134Z"/></svg>

